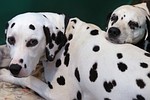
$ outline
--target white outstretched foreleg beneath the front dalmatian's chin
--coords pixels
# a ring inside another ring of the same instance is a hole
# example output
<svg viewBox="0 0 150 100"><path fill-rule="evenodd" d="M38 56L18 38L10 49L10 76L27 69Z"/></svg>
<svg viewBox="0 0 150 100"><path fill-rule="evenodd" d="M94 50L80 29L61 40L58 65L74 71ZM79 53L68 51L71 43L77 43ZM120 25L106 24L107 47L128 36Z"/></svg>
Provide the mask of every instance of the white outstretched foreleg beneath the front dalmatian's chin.
<svg viewBox="0 0 150 100"><path fill-rule="evenodd" d="M51 95L52 93L48 85L33 76L29 76L25 78L17 78L12 76L9 70L2 69L0 70L0 81L5 81L5 82L28 87L34 90L35 92L37 92L46 100L54 100L52 98L53 96Z"/></svg>

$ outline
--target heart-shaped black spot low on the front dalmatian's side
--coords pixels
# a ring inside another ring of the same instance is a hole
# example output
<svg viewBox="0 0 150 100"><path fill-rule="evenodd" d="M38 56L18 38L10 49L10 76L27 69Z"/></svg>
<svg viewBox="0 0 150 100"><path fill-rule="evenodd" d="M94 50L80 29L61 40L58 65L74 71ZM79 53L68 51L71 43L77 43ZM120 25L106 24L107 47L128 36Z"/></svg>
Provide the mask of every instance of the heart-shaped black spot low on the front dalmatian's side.
<svg viewBox="0 0 150 100"><path fill-rule="evenodd" d="M105 90L107 91L107 92L111 92L111 90L113 89L113 87L115 87L117 85L117 83L116 83L116 81L115 80L113 80L112 82L104 82L103 83L103 86L104 86L104 88L105 88Z"/></svg>

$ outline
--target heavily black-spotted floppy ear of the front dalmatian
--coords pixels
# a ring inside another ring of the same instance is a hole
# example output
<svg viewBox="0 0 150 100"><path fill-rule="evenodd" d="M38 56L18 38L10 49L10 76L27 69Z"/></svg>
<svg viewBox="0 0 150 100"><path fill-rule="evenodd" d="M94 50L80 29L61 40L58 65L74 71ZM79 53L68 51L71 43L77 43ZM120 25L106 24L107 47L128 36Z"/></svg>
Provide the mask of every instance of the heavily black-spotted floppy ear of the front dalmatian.
<svg viewBox="0 0 150 100"><path fill-rule="evenodd" d="M43 31L46 37L46 58L49 61L53 61L58 51L67 42L67 38L66 35L59 29L57 29L54 33L51 33L48 27L43 26Z"/></svg>

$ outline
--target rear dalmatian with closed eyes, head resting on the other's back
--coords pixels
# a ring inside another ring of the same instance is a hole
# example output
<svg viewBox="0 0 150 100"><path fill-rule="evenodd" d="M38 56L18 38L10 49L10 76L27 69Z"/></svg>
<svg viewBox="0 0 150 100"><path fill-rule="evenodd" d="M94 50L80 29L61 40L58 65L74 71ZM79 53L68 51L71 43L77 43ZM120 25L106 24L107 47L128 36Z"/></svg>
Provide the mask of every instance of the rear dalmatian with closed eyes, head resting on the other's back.
<svg viewBox="0 0 150 100"><path fill-rule="evenodd" d="M123 5L110 16L106 38L118 44L132 43L150 52L150 21L146 3Z"/></svg>

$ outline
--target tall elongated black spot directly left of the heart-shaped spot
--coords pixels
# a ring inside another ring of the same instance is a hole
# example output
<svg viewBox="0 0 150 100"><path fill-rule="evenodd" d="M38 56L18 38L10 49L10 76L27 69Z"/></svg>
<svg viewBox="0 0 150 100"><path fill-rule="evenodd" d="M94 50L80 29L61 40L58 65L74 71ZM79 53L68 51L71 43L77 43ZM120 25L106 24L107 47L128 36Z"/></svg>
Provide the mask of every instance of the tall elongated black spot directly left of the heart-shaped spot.
<svg viewBox="0 0 150 100"><path fill-rule="evenodd" d="M95 82L98 77L98 73L96 69L97 69L97 63L94 63L90 70L90 76L89 76L91 82Z"/></svg>

